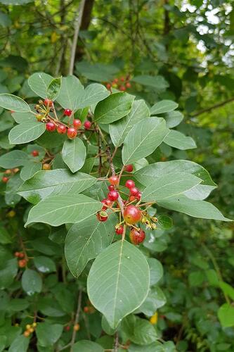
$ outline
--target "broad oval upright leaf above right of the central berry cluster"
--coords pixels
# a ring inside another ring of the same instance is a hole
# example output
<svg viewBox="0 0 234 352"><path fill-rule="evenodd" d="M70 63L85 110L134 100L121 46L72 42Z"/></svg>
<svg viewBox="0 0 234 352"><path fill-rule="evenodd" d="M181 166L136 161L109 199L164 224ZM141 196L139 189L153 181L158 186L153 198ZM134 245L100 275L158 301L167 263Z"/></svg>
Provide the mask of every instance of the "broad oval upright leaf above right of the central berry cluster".
<svg viewBox="0 0 234 352"><path fill-rule="evenodd" d="M163 118L147 118L138 122L126 135L122 149L124 165L149 156L169 133Z"/></svg>

